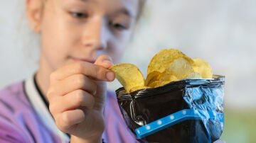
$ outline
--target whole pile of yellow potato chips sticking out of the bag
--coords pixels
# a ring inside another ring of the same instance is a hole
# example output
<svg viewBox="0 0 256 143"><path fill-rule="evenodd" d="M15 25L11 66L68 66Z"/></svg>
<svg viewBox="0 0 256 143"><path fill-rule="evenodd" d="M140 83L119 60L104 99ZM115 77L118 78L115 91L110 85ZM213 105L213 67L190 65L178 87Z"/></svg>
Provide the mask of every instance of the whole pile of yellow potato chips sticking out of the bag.
<svg viewBox="0 0 256 143"><path fill-rule="evenodd" d="M176 49L164 49L151 59L144 76L134 64L115 64L110 67L127 93L142 88L156 88L181 79L212 79L210 64L203 59L191 59Z"/></svg>

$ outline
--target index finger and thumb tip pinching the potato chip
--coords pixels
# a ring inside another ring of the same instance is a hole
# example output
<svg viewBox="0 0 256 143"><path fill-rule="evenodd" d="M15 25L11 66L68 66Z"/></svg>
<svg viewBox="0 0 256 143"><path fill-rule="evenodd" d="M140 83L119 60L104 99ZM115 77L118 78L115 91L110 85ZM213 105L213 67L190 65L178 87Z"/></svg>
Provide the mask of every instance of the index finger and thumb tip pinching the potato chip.
<svg viewBox="0 0 256 143"><path fill-rule="evenodd" d="M95 64L89 62L75 62L57 69L50 75L50 80L61 80L73 74L84 74L93 79L101 81L113 81L114 73L107 68L112 66L111 59L107 56L100 56Z"/></svg>

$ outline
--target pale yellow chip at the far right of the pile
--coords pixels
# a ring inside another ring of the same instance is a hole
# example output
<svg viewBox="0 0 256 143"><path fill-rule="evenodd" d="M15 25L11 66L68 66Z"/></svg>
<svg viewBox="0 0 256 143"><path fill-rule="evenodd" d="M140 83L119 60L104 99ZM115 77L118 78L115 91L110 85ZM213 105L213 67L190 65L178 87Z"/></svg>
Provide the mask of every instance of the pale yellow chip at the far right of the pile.
<svg viewBox="0 0 256 143"><path fill-rule="evenodd" d="M213 69L210 67L210 64L203 59L193 59L193 69L194 71L201 74L203 79L212 79L213 78Z"/></svg>

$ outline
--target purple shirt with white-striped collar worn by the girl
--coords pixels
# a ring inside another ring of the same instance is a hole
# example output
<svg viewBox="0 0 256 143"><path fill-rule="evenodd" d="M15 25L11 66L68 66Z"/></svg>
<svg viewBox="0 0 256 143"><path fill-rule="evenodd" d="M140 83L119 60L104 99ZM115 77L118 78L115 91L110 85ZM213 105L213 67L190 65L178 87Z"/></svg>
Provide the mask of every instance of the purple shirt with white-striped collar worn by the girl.
<svg viewBox="0 0 256 143"><path fill-rule="evenodd" d="M38 92L33 78L0 91L0 142L69 142ZM104 142L138 142L125 125L114 92L107 92L104 116Z"/></svg>

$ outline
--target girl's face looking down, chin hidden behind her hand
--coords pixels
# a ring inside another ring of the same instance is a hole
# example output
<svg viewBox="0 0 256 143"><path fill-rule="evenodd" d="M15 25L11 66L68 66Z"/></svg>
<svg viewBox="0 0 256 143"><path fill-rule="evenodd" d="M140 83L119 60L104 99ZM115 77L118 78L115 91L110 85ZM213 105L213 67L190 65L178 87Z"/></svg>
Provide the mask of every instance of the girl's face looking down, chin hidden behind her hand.
<svg viewBox="0 0 256 143"><path fill-rule="evenodd" d="M109 55L118 62L132 35L138 0L47 0L41 17L41 62L55 70Z"/></svg>

